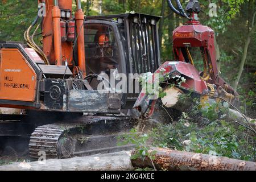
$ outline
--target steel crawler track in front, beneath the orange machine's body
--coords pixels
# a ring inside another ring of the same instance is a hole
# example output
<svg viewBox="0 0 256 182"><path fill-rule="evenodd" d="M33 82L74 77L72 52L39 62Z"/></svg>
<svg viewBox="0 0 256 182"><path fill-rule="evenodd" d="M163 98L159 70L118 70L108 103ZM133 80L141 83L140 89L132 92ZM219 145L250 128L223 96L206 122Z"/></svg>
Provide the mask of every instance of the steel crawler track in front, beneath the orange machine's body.
<svg viewBox="0 0 256 182"><path fill-rule="evenodd" d="M46 154L46 159L59 159L129 150L133 145L117 146L117 137L133 125L123 117L84 117L80 122L39 126L31 134L30 156L38 159Z"/></svg>

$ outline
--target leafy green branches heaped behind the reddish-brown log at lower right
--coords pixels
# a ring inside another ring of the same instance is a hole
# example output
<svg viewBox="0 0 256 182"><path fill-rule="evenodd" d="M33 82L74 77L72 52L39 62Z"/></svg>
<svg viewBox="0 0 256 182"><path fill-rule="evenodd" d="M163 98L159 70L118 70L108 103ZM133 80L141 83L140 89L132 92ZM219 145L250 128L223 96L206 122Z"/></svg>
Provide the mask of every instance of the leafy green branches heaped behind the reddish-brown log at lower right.
<svg viewBox="0 0 256 182"><path fill-rule="evenodd" d="M250 93L253 95L253 93ZM196 99L195 99L196 101ZM183 113L177 122L158 124L147 135L131 130L123 138L125 144L133 143L138 151L132 158L148 155L149 146L172 150L226 156L228 158L256 161L255 137L243 126L226 122L222 117L228 103L205 107L197 104L189 115ZM190 118L193 116L193 118ZM195 118L200 122L195 122ZM152 158L154 158L151 153Z"/></svg>

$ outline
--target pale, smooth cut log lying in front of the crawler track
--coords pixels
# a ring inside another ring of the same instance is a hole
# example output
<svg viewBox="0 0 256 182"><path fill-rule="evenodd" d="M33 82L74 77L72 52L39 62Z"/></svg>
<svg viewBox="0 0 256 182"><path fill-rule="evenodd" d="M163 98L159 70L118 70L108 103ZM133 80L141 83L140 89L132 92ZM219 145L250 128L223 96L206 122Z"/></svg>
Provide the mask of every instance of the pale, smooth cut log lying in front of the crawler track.
<svg viewBox="0 0 256 182"><path fill-rule="evenodd" d="M132 170L131 151L98 154L72 159L51 159L44 162L14 163L0 166L0 171L121 171Z"/></svg>

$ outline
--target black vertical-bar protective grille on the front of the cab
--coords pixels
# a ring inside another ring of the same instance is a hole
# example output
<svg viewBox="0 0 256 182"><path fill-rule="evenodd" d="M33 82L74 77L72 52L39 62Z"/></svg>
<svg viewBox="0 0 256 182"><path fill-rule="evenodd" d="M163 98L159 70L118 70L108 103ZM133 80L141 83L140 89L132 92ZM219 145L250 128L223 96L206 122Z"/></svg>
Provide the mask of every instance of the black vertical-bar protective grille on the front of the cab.
<svg viewBox="0 0 256 182"><path fill-rule="evenodd" d="M131 67L133 73L155 72L159 67L159 42L155 19L135 17L129 21ZM152 24L151 22L155 22Z"/></svg>

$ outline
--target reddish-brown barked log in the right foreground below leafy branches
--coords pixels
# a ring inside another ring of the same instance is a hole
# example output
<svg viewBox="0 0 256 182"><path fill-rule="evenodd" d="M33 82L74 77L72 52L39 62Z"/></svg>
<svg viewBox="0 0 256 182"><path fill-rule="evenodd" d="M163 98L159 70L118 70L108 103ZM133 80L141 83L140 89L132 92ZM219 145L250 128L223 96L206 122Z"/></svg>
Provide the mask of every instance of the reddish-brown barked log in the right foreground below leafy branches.
<svg viewBox="0 0 256 182"><path fill-rule="evenodd" d="M255 171L256 163L243 160L218 157L213 155L195 154L192 152L174 151L162 148L152 148L155 159L154 166L170 171ZM134 152L134 151L133 151ZM151 160L133 159L133 167L153 168Z"/></svg>

